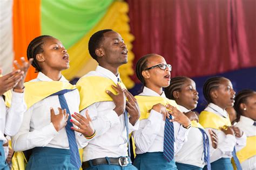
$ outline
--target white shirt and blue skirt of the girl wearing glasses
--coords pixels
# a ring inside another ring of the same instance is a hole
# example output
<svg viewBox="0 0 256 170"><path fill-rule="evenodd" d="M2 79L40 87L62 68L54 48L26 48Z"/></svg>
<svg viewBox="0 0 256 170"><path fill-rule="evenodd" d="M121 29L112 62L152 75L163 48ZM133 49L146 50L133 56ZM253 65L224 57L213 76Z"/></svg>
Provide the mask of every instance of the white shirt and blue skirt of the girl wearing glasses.
<svg viewBox="0 0 256 170"><path fill-rule="evenodd" d="M147 87L144 87L143 93L139 94L139 96L166 98L164 91L159 95ZM187 135L191 128L186 129L177 122L173 122L173 128L175 139L173 152L176 153L187 140ZM136 158L133 165L138 169L177 169L174 159L168 162L163 156L164 129L165 121L163 121L163 115L153 109L151 109L147 118L140 120L139 130L133 132L136 145Z"/></svg>

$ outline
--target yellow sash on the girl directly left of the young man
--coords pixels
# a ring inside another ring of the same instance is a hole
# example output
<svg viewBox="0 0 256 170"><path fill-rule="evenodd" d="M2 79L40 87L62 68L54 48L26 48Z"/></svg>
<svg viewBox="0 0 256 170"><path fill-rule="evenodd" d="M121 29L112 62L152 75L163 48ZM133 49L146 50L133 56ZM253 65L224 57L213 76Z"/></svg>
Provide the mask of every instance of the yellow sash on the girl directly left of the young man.
<svg viewBox="0 0 256 170"><path fill-rule="evenodd" d="M43 100L50 95L57 93L58 91L69 89L76 89L75 85L69 82L61 81L38 81L38 82L26 82L24 83L24 100L27 109L29 109L33 104ZM11 102L7 102L6 105L10 107Z"/></svg>

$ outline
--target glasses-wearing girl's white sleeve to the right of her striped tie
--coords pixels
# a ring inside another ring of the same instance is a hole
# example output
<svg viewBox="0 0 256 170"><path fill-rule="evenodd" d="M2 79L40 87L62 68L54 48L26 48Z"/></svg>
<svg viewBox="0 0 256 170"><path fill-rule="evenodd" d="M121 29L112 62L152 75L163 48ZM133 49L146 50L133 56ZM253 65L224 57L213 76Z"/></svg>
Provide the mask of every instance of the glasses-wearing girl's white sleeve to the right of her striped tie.
<svg viewBox="0 0 256 170"><path fill-rule="evenodd" d="M176 144L175 153L177 153L180 150L180 148L183 146L183 144L187 141L188 132L190 131L191 128L186 129L183 127L183 125L177 122L173 122L173 125L176 125L176 126L179 125L179 130L178 130L177 136L175 137L175 144Z"/></svg>

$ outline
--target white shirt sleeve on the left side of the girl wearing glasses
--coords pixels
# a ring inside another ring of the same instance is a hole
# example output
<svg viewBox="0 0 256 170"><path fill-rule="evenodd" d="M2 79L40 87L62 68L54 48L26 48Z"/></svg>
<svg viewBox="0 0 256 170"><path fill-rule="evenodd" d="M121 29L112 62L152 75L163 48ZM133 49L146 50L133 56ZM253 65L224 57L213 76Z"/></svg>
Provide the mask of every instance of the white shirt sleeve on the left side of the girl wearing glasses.
<svg viewBox="0 0 256 170"><path fill-rule="evenodd" d="M145 153L149 150L160 131L161 121L163 121L163 115L153 109L150 111L149 118L140 121L139 130L133 132L134 141L140 151Z"/></svg>

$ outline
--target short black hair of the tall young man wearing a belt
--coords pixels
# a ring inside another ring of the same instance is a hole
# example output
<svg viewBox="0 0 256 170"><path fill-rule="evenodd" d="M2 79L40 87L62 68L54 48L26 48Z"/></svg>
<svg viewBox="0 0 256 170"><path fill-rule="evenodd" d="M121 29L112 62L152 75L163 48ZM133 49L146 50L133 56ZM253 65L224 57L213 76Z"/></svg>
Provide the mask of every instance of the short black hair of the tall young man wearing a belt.
<svg viewBox="0 0 256 170"><path fill-rule="evenodd" d="M104 40L104 33L113 31L111 29L106 29L106 30L100 30L96 33L94 33L89 40L88 43L88 49L89 53L92 56L93 59L97 61L97 54L95 53L96 49L99 48L100 44Z"/></svg>

